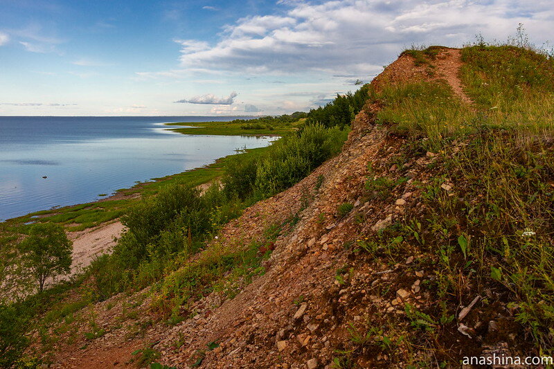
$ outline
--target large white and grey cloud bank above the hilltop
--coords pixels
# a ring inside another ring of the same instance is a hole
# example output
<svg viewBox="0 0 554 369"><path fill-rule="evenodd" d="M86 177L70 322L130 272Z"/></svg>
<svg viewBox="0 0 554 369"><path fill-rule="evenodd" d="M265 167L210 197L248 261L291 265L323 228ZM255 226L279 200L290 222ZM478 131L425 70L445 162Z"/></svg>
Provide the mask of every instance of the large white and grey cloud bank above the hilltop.
<svg viewBox="0 0 554 369"><path fill-rule="evenodd" d="M281 0L283 15L238 19L215 44L181 42L185 69L374 75L411 44L461 46L483 33L506 39L523 22L533 39L551 34L551 1ZM463 16L461 16L463 15Z"/></svg>

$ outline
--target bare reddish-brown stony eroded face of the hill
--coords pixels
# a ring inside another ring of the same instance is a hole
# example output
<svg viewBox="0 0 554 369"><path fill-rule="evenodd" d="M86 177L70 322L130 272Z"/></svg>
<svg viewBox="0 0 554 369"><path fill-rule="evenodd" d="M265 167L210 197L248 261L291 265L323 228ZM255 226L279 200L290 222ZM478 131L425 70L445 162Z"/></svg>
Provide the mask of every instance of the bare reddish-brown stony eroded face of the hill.
<svg viewBox="0 0 554 369"><path fill-rule="evenodd" d="M403 55L373 84L379 89L441 78L456 92L461 86L454 73L461 63L459 51L445 48L438 60L429 73L428 66L415 66L409 55ZM114 296L89 307L89 314L96 314L98 324L113 327L124 314L123 306L134 301L136 320L122 323L82 350L77 349L82 342L60 345L55 362L75 368L125 366L134 350L145 347L161 353L159 363L177 368L390 368L405 367L406 360L434 362L437 355L452 359L453 345L458 349L464 345L466 354L481 353L483 345L458 332L456 323L437 334L441 342L435 347L445 352L402 341L403 336L418 335L411 327L415 319L411 311L441 308L433 291L424 288L436 278L432 262L424 260L436 255L405 245L402 255L394 258L397 262L391 263L386 255L379 257L386 253L379 249L382 245L370 240L396 222L425 213L421 183L434 177L441 154L413 150L406 155L405 138L375 125L377 109L376 104L368 105L357 115L338 156L289 190L245 210L203 251L241 249L261 240L271 225L285 224L267 246L273 251L262 264L265 273L249 284L236 282L236 295L212 291L188 305L190 318L175 325L152 324L156 316L149 308L148 290ZM379 178L390 181L382 193L366 188L367 181ZM443 195L455 187L446 180ZM417 225L411 226L417 233ZM402 240L386 242L394 246ZM375 250L366 252L371 248ZM128 333L137 324L143 327L139 339Z"/></svg>

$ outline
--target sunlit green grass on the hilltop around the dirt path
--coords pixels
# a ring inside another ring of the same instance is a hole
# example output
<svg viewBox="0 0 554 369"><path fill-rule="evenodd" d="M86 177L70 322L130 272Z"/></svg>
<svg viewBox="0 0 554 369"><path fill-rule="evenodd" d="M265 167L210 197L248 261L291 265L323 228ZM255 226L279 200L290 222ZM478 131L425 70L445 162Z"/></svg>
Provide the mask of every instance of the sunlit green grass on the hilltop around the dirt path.
<svg viewBox="0 0 554 369"><path fill-rule="evenodd" d="M429 49L426 49L429 50ZM434 50L434 49L431 49ZM431 57L426 51L404 51ZM554 128L554 60L515 46L463 48L461 79L468 106L443 81L420 81L370 90L382 109L376 121L393 134L427 138L427 150L438 151L452 140L482 129L516 129L543 134Z"/></svg>

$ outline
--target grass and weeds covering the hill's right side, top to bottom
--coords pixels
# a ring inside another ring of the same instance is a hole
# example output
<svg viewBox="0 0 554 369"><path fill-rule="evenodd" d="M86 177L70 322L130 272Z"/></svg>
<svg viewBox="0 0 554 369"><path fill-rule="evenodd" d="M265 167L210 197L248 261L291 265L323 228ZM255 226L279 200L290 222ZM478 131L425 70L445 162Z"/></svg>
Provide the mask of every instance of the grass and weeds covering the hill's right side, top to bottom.
<svg viewBox="0 0 554 369"><path fill-rule="evenodd" d="M430 53L418 53L414 62L423 58L434 62ZM429 165L431 179L418 184L421 208L381 235L368 235L370 241L361 246L370 253L385 247L384 259L391 264L418 249L425 256L419 267L434 269L431 291L439 304L408 312L415 332L402 332L409 337L403 348L432 350L438 363L456 360L448 347L459 339L456 311L480 295L473 321L465 323L503 316L496 341L485 339L483 345L503 340L519 353L552 354L554 61L513 46L468 47L462 58L461 78L472 107L440 81L373 91L382 107L376 122L406 139L391 162L400 175L408 174L403 164L414 155L430 151L437 159ZM379 330L381 337L387 334L379 326L368 330L368 338ZM490 337L485 325L472 332ZM480 352L481 343L472 345Z"/></svg>

